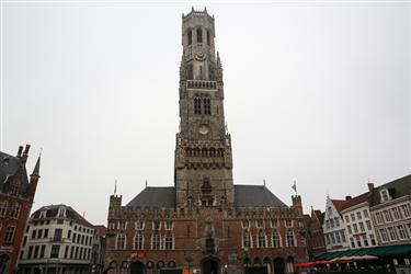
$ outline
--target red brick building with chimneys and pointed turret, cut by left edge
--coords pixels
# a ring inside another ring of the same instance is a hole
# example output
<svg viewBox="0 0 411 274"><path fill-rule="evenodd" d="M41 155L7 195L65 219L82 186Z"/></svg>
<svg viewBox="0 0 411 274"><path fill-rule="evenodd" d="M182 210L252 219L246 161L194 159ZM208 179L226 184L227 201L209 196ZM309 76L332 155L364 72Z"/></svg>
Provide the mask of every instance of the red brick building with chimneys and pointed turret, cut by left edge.
<svg viewBox="0 0 411 274"><path fill-rule="evenodd" d="M30 145L19 147L18 155L0 151L0 273L14 273L24 228L39 179L38 157L32 174L25 164Z"/></svg>

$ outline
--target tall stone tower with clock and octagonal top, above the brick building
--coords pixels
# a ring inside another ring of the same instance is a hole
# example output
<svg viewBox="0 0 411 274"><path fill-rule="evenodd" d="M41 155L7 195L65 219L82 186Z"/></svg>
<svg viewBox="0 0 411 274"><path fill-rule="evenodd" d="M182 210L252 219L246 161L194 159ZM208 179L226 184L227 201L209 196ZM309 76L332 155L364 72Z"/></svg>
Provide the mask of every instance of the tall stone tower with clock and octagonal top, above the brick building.
<svg viewBox="0 0 411 274"><path fill-rule="evenodd" d="M224 116L222 68L215 53L214 16L182 16L180 133L176 134L176 207L232 206L231 138Z"/></svg>

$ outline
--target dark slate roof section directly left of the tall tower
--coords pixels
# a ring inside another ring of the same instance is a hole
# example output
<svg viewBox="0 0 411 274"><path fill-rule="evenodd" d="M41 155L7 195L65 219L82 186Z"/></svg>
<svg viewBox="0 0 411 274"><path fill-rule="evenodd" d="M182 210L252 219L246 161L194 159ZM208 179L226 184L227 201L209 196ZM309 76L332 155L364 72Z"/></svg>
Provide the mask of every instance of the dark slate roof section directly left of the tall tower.
<svg viewBox="0 0 411 274"><path fill-rule="evenodd" d="M174 186L147 186L126 206L175 207Z"/></svg>

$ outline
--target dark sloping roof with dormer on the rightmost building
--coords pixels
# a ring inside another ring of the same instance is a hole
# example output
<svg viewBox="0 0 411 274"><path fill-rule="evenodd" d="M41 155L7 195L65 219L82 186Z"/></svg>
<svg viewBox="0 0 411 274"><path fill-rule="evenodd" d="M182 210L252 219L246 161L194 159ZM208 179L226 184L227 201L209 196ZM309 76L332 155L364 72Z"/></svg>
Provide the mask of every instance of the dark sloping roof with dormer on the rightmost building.
<svg viewBox="0 0 411 274"><path fill-rule="evenodd" d="M376 206L381 203L379 192L384 189L388 190L392 199L411 195L411 174L375 187L370 196L369 206Z"/></svg>

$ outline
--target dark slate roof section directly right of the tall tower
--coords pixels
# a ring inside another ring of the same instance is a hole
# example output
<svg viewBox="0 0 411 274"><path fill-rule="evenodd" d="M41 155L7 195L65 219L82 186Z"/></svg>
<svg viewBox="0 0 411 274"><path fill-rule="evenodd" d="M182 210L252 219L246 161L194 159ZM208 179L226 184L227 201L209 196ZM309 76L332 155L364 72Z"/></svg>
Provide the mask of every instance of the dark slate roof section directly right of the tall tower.
<svg viewBox="0 0 411 274"><path fill-rule="evenodd" d="M235 203L238 207L287 207L265 185L235 185Z"/></svg>

